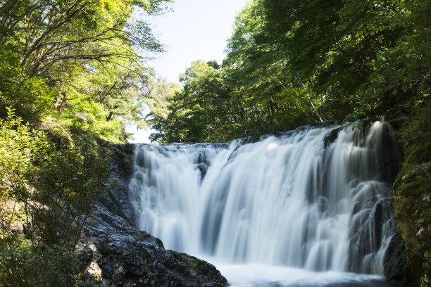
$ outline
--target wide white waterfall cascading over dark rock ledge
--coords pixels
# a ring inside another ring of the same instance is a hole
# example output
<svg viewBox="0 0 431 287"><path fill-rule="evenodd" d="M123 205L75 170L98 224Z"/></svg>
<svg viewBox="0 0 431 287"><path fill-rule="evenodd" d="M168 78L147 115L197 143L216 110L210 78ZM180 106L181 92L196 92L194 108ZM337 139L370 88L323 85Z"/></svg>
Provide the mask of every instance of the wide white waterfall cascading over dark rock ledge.
<svg viewBox="0 0 431 287"><path fill-rule="evenodd" d="M139 145L138 227L165 248L232 266L381 275L396 231L390 131L375 122L367 133L332 125L249 144Z"/></svg>

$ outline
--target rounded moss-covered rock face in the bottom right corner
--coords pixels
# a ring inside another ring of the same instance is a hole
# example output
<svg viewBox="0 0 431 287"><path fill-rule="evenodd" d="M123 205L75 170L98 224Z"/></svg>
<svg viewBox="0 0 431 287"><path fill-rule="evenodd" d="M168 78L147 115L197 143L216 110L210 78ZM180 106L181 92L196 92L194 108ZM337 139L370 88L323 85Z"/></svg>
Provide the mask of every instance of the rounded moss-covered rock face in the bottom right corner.
<svg viewBox="0 0 431 287"><path fill-rule="evenodd" d="M394 217L406 241L406 286L431 285L431 162L403 171L392 191Z"/></svg>

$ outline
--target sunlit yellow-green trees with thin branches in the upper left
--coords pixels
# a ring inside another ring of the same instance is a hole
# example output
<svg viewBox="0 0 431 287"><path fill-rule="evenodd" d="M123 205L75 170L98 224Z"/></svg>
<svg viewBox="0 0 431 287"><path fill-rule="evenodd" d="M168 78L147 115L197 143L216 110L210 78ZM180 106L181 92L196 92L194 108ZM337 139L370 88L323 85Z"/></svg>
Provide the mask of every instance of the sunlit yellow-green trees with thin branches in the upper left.
<svg viewBox="0 0 431 287"><path fill-rule="evenodd" d="M0 0L0 108L125 141L127 122L142 125L153 77L143 55L163 51L132 15L162 13L168 2Z"/></svg>

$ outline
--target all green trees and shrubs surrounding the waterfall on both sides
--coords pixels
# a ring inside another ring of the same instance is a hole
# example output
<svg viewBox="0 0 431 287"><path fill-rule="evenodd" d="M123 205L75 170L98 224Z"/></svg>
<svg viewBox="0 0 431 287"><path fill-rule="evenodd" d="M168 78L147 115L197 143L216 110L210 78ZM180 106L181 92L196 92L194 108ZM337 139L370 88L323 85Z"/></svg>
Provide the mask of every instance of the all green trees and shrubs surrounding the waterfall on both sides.
<svg viewBox="0 0 431 287"><path fill-rule="evenodd" d="M385 115L404 174L431 161L431 1L251 1L182 87L145 63L164 47L144 19L170 1L0 0L0 286L92 286L75 248L113 184L97 143L131 122L168 144Z"/></svg>

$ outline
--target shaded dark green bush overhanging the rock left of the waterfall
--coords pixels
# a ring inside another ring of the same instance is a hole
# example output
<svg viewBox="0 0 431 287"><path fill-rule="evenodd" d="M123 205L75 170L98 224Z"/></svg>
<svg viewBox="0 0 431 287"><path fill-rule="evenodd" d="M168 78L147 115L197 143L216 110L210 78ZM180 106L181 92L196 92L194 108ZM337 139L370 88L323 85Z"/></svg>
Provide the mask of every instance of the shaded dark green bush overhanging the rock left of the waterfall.
<svg viewBox="0 0 431 287"><path fill-rule="evenodd" d="M71 243L71 248L110 176L107 158L96 153L89 139L74 144L49 151L39 163L32 200L43 206L31 205L29 211L34 235L50 245Z"/></svg>

